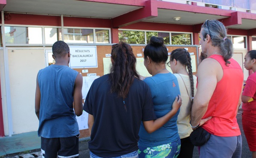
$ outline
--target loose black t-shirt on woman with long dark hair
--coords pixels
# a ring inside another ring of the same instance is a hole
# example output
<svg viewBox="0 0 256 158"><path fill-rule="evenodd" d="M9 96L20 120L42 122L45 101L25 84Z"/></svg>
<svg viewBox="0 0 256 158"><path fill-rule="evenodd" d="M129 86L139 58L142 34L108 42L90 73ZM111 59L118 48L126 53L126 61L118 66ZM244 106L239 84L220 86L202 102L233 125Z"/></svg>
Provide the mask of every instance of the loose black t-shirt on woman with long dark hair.
<svg viewBox="0 0 256 158"><path fill-rule="evenodd" d="M138 150L141 121L156 119L148 85L135 78L128 96L118 98L111 93L109 74L95 79L84 103L93 115L94 124L89 149L100 157L116 157Z"/></svg>

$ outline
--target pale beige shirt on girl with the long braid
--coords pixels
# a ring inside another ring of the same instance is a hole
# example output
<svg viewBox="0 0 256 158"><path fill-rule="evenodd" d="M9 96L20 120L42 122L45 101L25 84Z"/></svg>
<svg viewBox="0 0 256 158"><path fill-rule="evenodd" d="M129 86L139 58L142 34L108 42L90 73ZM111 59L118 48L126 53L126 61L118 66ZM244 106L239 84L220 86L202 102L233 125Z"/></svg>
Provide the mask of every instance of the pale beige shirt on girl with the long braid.
<svg viewBox="0 0 256 158"><path fill-rule="evenodd" d="M179 75L177 73L174 73L174 75L177 77L179 87L180 87L180 96L182 98L182 105L180 107L180 113L177 119L178 133L180 135L180 139L182 139L182 138L189 137L190 133L193 131L189 124L190 110L191 110L191 102L189 100L189 97L192 100L192 92L191 92L190 80L188 75L183 75L183 74ZM184 80L186 87L182 79ZM194 96L195 96L196 82L197 82L196 76L193 75L193 79L194 79ZM189 92L189 96L186 88Z"/></svg>

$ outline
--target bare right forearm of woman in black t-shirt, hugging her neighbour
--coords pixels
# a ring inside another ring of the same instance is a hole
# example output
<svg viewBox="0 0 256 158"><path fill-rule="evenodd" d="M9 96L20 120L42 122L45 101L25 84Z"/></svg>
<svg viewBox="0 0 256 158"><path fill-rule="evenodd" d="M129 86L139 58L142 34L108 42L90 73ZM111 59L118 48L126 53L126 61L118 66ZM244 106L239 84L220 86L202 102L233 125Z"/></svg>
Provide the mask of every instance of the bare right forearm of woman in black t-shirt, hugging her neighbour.
<svg viewBox="0 0 256 158"><path fill-rule="evenodd" d="M166 124L169 119L171 119L179 110L180 106L182 104L182 100L179 95L179 99L176 96L175 101L172 103L172 110L169 111L165 116L157 118L156 120L151 120L151 121L143 121L143 125L145 127L145 130L148 133L152 133L162 127L164 124ZM89 121L88 121L89 122Z"/></svg>

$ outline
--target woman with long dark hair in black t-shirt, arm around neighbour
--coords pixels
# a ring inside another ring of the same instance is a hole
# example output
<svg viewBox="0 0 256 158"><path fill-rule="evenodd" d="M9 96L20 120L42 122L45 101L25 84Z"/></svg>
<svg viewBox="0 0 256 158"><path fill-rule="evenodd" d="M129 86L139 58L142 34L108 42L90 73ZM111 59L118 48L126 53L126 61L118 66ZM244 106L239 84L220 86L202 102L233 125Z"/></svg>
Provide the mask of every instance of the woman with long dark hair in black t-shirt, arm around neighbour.
<svg viewBox="0 0 256 158"><path fill-rule="evenodd" d="M140 122L154 132L177 112L181 100L176 97L172 110L156 119L151 90L139 79L131 46L112 45L111 62L111 72L94 80L84 103L90 157L137 158Z"/></svg>

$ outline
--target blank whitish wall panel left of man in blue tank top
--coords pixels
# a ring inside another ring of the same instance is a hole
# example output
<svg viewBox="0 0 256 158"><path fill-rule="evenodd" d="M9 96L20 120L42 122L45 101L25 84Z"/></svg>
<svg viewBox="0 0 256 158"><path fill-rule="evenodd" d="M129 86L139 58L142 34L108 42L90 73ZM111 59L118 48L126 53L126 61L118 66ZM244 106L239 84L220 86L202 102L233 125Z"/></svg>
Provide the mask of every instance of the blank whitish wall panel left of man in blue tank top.
<svg viewBox="0 0 256 158"><path fill-rule="evenodd" d="M45 67L44 49L9 48L8 59L13 134L36 131L35 86L38 71Z"/></svg>

